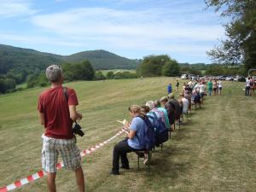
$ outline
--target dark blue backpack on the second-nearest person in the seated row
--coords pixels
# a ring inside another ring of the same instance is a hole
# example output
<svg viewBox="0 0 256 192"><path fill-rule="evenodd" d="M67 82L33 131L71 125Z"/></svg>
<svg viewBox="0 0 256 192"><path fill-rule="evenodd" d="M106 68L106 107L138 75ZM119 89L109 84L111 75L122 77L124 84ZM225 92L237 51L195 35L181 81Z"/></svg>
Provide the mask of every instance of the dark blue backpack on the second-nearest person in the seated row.
<svg viewBox="0 0 256 192"><path fill-rule="evenodd" d="M154 119L154 128L155 128L155 145L159 146L161 143L165 143L169 139L168 128L166 124L157 117L157 115L153 112L153 116L150 114L148 118Z"/></svg>

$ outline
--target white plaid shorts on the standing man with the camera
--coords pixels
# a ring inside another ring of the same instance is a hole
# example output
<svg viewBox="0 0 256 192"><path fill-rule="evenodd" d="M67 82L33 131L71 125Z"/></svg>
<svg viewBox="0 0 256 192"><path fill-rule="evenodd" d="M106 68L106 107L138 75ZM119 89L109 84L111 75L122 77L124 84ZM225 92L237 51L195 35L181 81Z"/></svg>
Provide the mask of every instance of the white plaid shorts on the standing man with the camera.
<svg viewBox="0 0 256 192"><path fill-rule="evenodd" d="M67 170L74 171L80 167L81 156L75 137L67 140L44 136L42 167L46 172L57 171L56 165L59 154L61 154L64 167Z"/></svg>

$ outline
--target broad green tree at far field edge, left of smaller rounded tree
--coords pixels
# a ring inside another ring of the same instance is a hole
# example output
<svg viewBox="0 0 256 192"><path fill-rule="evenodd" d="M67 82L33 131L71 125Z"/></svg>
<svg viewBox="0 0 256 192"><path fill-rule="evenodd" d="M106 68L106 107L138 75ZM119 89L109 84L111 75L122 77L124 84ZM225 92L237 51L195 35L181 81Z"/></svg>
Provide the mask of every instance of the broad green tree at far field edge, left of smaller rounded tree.
<svg viewBox="0 0 256 192"><path fill-rule="evenodd" d="M170 61L168 55L149 55L144 57L142 64L137 67L139 76L160 76L162 67L167 61Z"/></svg>

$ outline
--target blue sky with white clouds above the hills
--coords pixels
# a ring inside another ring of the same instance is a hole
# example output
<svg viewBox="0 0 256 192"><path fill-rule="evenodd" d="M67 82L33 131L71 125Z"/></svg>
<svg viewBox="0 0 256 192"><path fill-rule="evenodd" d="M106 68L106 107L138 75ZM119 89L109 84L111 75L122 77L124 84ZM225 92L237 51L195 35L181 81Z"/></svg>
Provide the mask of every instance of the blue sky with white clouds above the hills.
<svg viewBox="0 0 256 192"><path fill-rule="evenodd" d="M204 0L0 0L0 44L60 55L106 49L209 63L223 24Z"/></svg>

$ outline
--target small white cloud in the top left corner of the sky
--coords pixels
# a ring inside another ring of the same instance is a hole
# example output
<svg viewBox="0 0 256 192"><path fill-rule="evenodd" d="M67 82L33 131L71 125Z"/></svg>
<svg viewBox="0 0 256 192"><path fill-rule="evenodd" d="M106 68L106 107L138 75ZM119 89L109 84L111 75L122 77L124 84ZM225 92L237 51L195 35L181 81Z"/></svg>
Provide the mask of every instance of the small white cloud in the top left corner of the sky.
<svg viewBox="0 0 256 192"><path fill-rule="evenodd" d="M33 15L36 10L31 8L29 1L0 0L0 17L14 17L18 15Z"/></svg>

